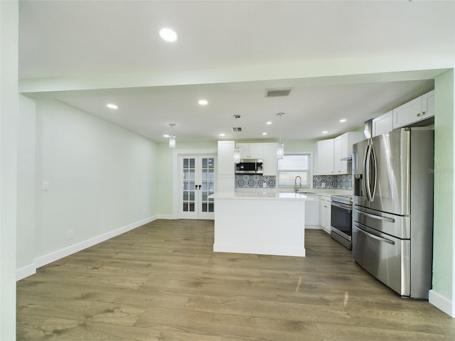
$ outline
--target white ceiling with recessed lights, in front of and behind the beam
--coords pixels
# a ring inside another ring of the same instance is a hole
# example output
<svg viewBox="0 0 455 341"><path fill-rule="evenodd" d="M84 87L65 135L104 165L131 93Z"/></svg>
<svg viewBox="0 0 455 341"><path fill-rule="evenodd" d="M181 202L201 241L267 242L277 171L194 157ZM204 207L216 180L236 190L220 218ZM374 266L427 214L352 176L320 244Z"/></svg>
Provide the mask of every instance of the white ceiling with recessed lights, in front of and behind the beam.
<svg viewBox="0 0 455 341"><path fill-rule="evenodd" d="M20 1L20 82L61 85L31 91L52 97L165 141L176 123L178 141L320 139L358 128L434 87L427 72L410 81L264 79L232 82L229 70L264 70L293 63L363 60L390 55L455 53L454 1ZM158 36L164 26L176 43ZM262 67L262 69L261 69ZM237 68L237 69L235 69ZM240 69L242 68L242 69ZM222 72L223 71L223 72ZM271 74L273 70L270 70ZM186 72L186 85L165 79ZM225 81L192 82L191 75L223 74ZM109 90L100 80L155 75ZM158 75L158 76L157 76ZM160 78L161 77L161 78ZM77 91L73 84L95 84ZM68 82L65 80L73 80ZM193 84L192 84L193 83ZM62 85L63 84L63 85ZM265 98L270 87L289 97ZM65 90L59 92L58 90ZM74 90L74 91L72 91ZM200 107L205 98L208 106ZM119 109L105 107L114 102ZM234 114L242 116L238 124ZM341 124L339 119L347 119ZM266 121L273 121L266 126ZM236 136L232 126L242 126ZM262 136L267 132L267 136Z"/></svg>

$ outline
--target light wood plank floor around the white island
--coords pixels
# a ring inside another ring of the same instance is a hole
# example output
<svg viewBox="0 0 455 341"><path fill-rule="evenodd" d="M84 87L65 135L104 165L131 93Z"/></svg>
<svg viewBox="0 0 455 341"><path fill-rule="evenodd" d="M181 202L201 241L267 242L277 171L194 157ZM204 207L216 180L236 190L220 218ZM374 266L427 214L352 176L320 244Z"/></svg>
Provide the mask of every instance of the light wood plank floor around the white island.
<svg viewBox="0 0 455 341"><path fill-rule="evenodd" d="M213 222L156 220L18 282L18 340L455 340L326 232L306 258L213 253Z"/></svg>

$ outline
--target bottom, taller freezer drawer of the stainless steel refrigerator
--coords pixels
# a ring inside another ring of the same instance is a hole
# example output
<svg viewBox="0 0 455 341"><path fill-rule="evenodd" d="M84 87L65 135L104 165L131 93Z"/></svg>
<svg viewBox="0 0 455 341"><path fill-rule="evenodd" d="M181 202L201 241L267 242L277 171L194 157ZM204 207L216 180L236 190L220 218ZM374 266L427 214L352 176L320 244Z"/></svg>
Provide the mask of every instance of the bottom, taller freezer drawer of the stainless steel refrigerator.
<svg viewBox="0 0 455 341"><path fill-rule="evenodd" d="M354 260L401 296L410 296L410 243L353 223Z"/></svg>

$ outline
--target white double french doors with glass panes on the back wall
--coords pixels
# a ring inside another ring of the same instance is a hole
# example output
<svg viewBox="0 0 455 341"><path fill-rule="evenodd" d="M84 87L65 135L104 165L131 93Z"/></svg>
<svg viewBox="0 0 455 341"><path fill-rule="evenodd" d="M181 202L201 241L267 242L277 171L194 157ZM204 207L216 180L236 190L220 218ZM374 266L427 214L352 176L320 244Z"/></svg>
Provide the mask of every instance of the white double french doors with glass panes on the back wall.
<svg viewBox="0 0 455 341"><path fill-rule="evenodd" d="M179 217L214 219L215 203L208 196L215 193L215 156L181 156L179 169Z"/></svg>

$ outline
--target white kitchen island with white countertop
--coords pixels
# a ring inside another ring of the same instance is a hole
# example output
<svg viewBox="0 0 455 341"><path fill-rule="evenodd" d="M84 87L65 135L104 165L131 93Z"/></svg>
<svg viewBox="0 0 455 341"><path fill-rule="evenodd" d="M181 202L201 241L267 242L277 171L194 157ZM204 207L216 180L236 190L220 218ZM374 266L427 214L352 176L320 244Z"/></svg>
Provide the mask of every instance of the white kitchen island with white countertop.
<svg viewBox="0 0 455 341"><path fill-rule="evenodd" d="M299 193L230 192L215 200L213 251L305 256L305 202Z"/></svg>

